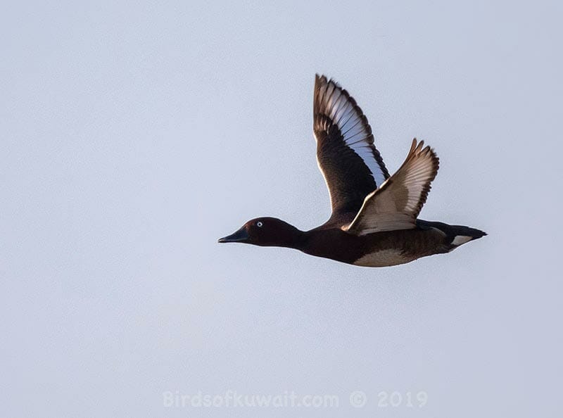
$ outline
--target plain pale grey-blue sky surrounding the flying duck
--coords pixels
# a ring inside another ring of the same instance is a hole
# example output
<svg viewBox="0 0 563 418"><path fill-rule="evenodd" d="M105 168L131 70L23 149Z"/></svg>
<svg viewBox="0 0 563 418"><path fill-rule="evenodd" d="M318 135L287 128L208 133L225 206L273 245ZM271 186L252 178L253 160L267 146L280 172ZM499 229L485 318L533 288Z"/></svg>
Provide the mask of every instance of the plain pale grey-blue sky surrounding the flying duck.
<svg viewBox="0 0 563 418"><path fill-rule="evenodd" d="M560 415L559 3L58 3L0 7L2 416ZM379 269L217 244L329 217L315 72L390 172L436 148L422 218L489 235ZM228 389L339 407L163 405Z"/></svg>

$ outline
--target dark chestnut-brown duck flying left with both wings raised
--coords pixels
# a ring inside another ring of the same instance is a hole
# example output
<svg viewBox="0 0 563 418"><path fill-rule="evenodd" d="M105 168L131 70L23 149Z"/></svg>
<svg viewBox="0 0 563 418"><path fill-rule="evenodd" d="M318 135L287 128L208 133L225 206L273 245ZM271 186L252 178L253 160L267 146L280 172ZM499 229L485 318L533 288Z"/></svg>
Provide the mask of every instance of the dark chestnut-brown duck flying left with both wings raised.
<svg viewBox="0 0 563 418"><path fill-rule="evenodd" d="M259 217L220 243L295 248L353 265L384 267L449 253L486 235L418 219L438 172L436 153L413 139L405 162L389 176L362 110L348 91L324 75L315 77L313 130L317 163L330 194L329 220L305 232L274 217Z"/></svg>

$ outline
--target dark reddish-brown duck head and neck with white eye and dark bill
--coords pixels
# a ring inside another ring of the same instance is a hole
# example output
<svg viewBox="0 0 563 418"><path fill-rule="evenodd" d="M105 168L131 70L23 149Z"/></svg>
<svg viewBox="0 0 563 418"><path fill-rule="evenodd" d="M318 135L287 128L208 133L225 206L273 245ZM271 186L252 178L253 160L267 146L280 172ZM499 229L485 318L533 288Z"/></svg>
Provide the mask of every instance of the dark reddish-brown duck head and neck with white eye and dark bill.
<svg viewBox="0 0 563 418"><path fill-rule="evenodd" d="M218 242L251 243L255 246L277 246L300 248L303 232L293 225L275 217L257 217L231 235L220 238Z"/></svg>

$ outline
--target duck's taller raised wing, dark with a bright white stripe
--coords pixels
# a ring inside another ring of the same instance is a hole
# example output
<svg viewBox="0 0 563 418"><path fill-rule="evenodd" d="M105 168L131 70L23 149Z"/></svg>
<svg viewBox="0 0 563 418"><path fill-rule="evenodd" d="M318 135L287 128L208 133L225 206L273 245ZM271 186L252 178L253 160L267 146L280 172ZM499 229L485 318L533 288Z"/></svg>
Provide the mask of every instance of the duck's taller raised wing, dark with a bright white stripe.
<svg viewBox="0 0 563 418"><path fill-rule="evenodd" d="M313 129L333 215L358 213L365 196L389 173L362 110L348 91L324 75L315 77Z"/></svg>

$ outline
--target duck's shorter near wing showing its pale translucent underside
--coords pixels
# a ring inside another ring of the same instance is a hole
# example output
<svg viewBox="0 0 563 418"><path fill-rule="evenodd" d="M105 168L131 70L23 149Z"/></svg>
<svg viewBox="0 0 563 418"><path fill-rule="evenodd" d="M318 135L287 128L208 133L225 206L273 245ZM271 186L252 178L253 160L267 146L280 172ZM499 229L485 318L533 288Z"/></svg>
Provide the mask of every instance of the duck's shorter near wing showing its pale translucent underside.
<svg viewBox="0 0 563 418"><path fill-rule="evenodd" d="M346 228L356 235L412 229L426 202L430 183L438 173L438 157L429 146L412 140L409 155L399 170L369 194L353 222Z"/></svg>

